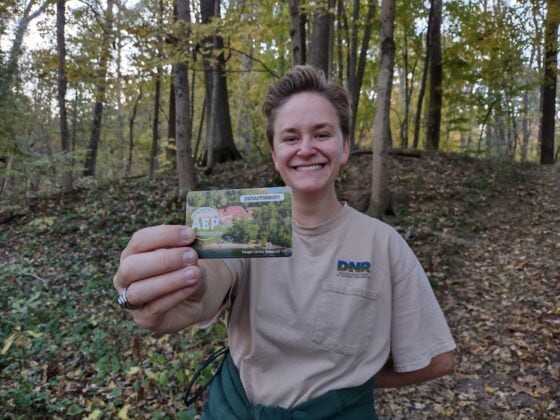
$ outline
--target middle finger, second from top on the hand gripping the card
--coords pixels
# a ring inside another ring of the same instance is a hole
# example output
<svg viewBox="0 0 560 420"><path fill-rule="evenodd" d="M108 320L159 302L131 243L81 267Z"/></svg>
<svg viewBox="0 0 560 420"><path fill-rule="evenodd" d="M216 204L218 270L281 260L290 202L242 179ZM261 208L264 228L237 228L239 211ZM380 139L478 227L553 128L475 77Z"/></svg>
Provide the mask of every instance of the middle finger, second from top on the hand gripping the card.
<svg viewBox="0 0 560 420"><path fill-rule="evenodd" d="M131 254L121 260L115 276L115 288L119 290L139 280L171 273L197 261L196 251L187 247Z"/></svg>

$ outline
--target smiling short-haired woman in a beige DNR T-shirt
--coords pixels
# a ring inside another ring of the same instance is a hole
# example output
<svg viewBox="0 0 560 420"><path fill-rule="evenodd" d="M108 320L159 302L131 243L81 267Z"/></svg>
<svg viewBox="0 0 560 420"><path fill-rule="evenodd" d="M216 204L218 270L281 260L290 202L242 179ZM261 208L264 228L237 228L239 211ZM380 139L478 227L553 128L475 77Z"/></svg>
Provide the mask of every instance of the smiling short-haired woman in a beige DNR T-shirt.
<svg viewBox="0 0 560 420"><path fill-rule="evenodd" d="M374 383L447 374L455 344L405 241L336 197L350 149L346 91L298 66L263 110L274 166L293 193L292 257L198 261L191 229L151 227L123 251L115 288L157 332L227 310L230 355L203 418L375 418Z"/></svg>

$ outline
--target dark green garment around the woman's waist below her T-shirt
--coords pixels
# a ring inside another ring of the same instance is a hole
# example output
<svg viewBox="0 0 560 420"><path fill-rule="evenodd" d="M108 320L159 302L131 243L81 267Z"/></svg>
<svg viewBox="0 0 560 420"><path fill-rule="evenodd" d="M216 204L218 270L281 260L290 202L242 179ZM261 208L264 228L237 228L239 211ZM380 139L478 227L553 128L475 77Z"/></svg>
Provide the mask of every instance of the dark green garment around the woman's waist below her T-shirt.
<svg viewBox="0 0 560 420"><path fill-rule="evenodd" d="M373 379L365 384L329 391L292 408L251 405L239 371L227 353L212 380L201 420L360 420L377 419L373 404Z"/></svg>

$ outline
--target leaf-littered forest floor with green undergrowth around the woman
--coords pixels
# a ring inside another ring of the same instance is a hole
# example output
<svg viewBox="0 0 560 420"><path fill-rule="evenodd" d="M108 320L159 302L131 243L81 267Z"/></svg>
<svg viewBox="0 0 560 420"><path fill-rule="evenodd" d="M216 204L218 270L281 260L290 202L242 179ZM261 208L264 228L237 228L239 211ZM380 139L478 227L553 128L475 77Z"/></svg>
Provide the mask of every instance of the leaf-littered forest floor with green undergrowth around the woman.
<svg viewBox="0 0 560 420"><path fill-rule="evenodd" d="M359 210L370 162L353 156L338 180ZM380 417L560 416L559 169L391 158L388 222L424 265L458 348L453 375L377 391ZM279 181L269 164L236 162L201 174L200 189ZM132 232L182 222L165 174L0 209L0 418L196 414L182 402L186 383L224 342L223 322L155 336L116 307L111 283Z"/></svg>

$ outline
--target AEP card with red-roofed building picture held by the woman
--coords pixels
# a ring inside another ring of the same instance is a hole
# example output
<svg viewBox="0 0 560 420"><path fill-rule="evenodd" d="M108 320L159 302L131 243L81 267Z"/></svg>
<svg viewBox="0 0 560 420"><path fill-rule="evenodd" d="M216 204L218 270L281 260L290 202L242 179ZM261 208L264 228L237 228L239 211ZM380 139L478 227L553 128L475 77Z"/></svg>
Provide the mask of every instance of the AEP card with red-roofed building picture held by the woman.
<svg viewBox="0 0 560 420"><path fill-rule="evenodd" d="M187 226L199 258L292 255L292 193L288 187L191 191Z"/></svg>

